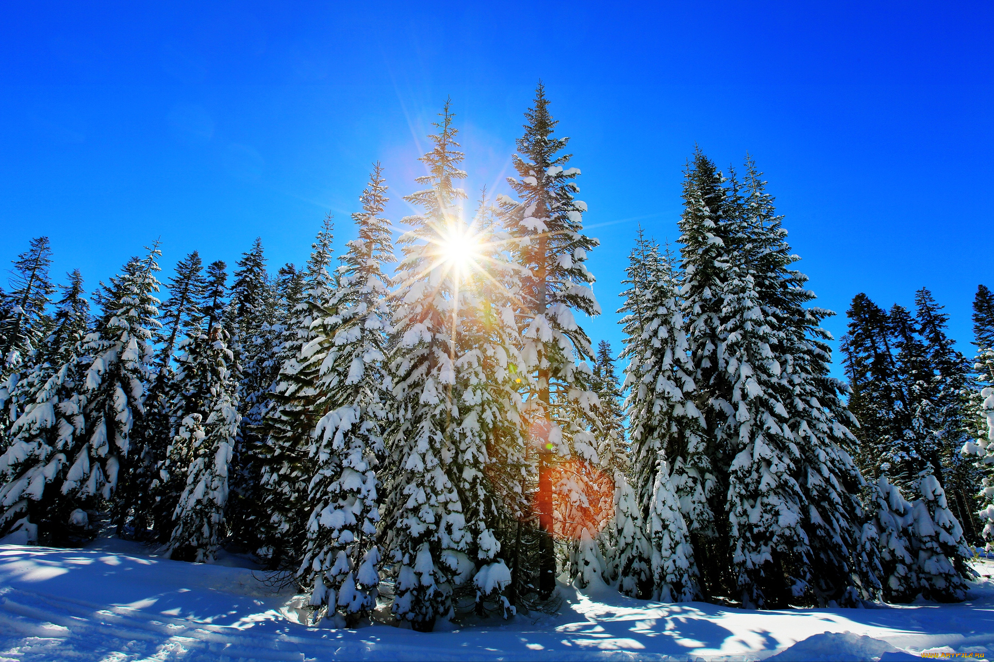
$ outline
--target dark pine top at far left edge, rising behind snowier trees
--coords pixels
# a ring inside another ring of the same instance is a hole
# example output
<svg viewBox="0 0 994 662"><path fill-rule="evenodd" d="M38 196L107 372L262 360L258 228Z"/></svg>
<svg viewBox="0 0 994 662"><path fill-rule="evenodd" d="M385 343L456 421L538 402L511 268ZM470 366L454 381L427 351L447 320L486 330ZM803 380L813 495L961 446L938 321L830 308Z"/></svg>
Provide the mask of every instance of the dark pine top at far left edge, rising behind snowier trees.
<svg viewBox="0 0 994 662"><path fill-rule="evenodd" d="M7 377L24 361L48 326L46 310L56 291L49 280L52 244L48 237L31 240L27 251L14 260L10 292L4 293L8 315L0 324L0 376Z"/></svg>

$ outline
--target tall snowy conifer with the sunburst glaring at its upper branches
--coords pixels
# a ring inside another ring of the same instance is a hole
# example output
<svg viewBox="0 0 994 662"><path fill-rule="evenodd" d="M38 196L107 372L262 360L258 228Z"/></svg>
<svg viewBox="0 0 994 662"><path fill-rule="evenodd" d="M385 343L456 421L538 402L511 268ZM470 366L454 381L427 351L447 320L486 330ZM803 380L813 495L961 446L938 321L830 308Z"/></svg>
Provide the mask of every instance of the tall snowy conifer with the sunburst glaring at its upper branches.
<svg viewBox="0 0 994 662"><path fill-rule="evenodd" d="M397 345L390 355L396 398L388 435L391 459L384 512L387 551L397 564L394 614L418 631L449 618L453 585L473 568L463 550L469 544L465 517L449 464L457 453L451 429L458 420L453 302L456 272L442 251L459 232L460 200L454 181L462 154L455 151L450 101L445 102L433 149L421 157L427 188L405 199L423 211L404 219L412 229L401 236L404 257L396 280L401 302L396 314Z"/></svg>

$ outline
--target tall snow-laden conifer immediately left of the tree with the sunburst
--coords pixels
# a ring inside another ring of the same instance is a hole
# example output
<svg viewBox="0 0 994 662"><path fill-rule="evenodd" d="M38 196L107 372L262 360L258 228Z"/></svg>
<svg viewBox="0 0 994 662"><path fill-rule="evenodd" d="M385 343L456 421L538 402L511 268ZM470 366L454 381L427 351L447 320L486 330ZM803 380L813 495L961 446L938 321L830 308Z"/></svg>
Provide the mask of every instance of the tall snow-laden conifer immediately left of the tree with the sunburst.
<svg viewBox="0 0 994 662"><path fill-rule="evenodd" d="M388 286L383 271L395 261L390 221L382 217L386 182L379 164L353 214L358 237L348 243L339 268L340 284L321 309L328 317L308 343L321 368L316 390L326 394L326 411L308 449L313 504L299 577L311 587L311 604L322 615L349 626L376 607L383 551L378 475L385 461L390 377L385 360L391 329ZM306 477L306 476L305 476Z"/></svg>

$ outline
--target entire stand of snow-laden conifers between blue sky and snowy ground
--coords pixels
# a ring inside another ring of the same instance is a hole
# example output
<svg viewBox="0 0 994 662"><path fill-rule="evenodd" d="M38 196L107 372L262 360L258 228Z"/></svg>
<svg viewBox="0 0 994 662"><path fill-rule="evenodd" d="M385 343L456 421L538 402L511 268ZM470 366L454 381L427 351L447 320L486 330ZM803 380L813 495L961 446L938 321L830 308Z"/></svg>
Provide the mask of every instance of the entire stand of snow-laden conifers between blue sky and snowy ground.
<svg viewBox="0 0 994 662"><path fill-rule="evenodd" d="M85 280L46 236L11 256L0 537L234 550L338 627L378 604L418 631L509 618L558 580L757 609L966 597L994 546L987 287L974 355L923 288L857 295L833 356L776 183L697 149L679 237L639 231L612 347L582 327L599 242L543 86L507 193L460 188L451 102L434 127L424 175L372 165L357 238L329 214L303 265L264 237L235 264L167 255L154 228Z"/></svg>

